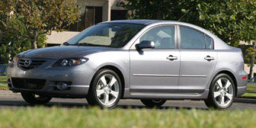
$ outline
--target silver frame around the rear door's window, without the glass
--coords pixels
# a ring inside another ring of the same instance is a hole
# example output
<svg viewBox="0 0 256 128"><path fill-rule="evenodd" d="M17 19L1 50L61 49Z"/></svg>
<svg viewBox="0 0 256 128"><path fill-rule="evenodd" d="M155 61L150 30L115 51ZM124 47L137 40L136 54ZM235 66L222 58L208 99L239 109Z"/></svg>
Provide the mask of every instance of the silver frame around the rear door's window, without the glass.
<svg viewBox="0 0 256 128"><path fill-rule="evenodd" d="M180 32L180 26L181 27L186 27L186 28L189 28L189 29L193 29L193 30L195 30L195 31L198 31L199 33L202 33L203 35L204 35L204 49L191 49L191 48L188 48L188 49L184 49L184 48L181 48L181 32ZM196 28L193 28L193 27L190 27L190 26L185 26L185 25L177 25L177 28L178 28L178 38L179 38L179 49L184 49L184 50L214 50L214 39L211 37L211 36L209 36L208 34L206 34L206 33L204 33L203 31L201 31L201 30L198 30L198 29L196 29ZM209 36L210 38L211 38L211 43L212 43L212 49L206 49L206 39L205 39L205 37L206 36Z"/></svg>

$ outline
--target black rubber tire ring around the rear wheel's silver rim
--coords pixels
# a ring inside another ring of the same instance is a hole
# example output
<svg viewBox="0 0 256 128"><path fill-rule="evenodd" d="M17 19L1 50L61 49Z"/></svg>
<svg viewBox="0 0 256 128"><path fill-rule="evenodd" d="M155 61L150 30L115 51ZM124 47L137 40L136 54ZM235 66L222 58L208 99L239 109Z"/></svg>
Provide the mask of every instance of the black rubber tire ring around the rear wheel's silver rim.
<svg viewBox="0 0 256 128"><path fill-rule="evenodd" d="M233 86L233 92L234 92L234 93L233 93L233 98L232 98L231 102L229 103L229 105L228 105L227 107L219 106L218 103L217 103L217 101L216 101L215 98L214 98L214 85L215 85L215 83L216 83L220 78L227 78L227 79L230 81L231 86ZM220 109L227 109L227 108L229 108L229 107L232 105L232 103L234 102L236 90L235 90L235 86L234 86L233 79L232 79L230 76L228 76L227 74L219 74L219 75L217 75L216 77L214 77L214 79L213 79L213 81L212 81L212 83L211 83L210 91L211 91L211 100L212 100L212 102L214 103L214 106L217 107L217 108L220 108Z"/></svg>

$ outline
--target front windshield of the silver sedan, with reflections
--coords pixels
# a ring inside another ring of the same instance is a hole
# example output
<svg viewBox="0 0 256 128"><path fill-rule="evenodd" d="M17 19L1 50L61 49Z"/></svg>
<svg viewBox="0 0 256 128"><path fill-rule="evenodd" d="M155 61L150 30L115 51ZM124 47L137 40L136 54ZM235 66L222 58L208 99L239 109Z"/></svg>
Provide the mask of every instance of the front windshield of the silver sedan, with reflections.
<svg viewBox="0 0 256 128"><path fill-rule="evenodd" d="M68 45L123 47L144 25L100 23L69 39Z"/></svg>

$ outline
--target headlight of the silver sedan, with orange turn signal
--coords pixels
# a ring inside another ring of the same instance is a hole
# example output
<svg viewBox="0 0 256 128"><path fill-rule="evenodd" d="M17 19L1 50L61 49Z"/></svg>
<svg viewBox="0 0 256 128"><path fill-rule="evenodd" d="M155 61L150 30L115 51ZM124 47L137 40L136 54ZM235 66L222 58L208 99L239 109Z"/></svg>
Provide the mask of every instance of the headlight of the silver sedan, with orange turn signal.
<svg viewBox="0 0 256 128"><path fill-rule="evenodd" d="M55 62L52 67L71 67L77 66L88 61L88 58L65 58Z"/></svg>

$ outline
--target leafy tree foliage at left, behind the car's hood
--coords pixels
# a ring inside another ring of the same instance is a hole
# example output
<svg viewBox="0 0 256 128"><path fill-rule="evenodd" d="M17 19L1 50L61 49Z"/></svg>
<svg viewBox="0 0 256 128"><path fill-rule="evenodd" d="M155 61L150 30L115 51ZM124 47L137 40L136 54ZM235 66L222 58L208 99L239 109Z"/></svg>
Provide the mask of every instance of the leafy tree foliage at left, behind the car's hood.
<svg viewBox="0 0 256 128"><path fill-rule="evenodd" d="M45 34L63 31L77 17L76 0L0 1L0 63L19 52L44 47Z"/></svg>

